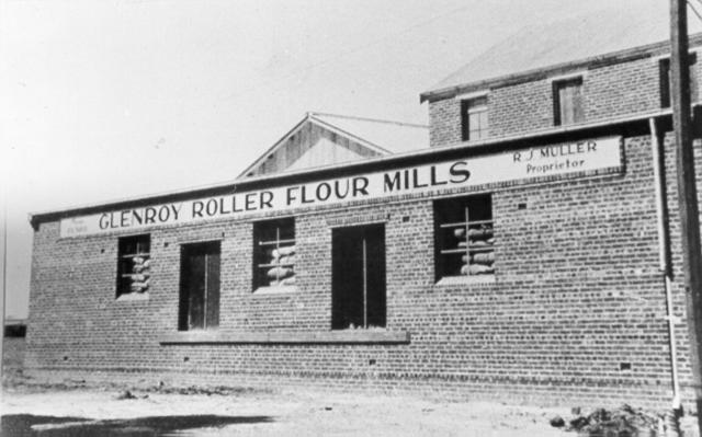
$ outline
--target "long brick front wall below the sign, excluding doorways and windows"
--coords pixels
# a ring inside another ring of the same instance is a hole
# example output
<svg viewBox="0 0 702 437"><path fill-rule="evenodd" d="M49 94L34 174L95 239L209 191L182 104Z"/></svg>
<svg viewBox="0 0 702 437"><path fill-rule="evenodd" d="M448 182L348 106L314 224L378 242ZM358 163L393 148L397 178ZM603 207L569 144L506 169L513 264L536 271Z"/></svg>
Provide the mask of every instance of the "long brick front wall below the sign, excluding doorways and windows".
<svg viewBox="0 0 702 437"><path fill-rule="evenodd" d="M57 222L42 223L26 365L667 406L670 359L649 138L627 138L624 156L623 174L492 191L492 284L434 284L426 195L293 211L298 285L280 295L252 294L252 219L151 231L149 299L135 301L115 300L120 234L59 240ZM673 210L673 194L669 203ZM222 240L219 332L329 331L330 223L378 215L386 218L387 330L409 332L409 344L159 344L178 325L180 245L207 240ZM671 231L675 237L677 228ZM684 326L679 331L682 359ZM689 381L684 363L683 373Z"/></svg>

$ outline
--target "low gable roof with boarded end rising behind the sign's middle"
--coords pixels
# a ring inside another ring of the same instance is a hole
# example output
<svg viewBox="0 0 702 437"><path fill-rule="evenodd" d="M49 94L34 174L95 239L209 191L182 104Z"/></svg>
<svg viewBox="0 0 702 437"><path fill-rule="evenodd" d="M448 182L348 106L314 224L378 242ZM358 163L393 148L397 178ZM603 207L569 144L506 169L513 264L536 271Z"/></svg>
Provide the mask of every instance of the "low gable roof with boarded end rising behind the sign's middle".
<svg viewBox="0 0 702 437"><path fill-rule="evenodd" d="M296 141L293 143L293 141ZM429 127L307 113L238 179L401 153L429 147ZM315 156L312 156L315 154Z"/></svg>

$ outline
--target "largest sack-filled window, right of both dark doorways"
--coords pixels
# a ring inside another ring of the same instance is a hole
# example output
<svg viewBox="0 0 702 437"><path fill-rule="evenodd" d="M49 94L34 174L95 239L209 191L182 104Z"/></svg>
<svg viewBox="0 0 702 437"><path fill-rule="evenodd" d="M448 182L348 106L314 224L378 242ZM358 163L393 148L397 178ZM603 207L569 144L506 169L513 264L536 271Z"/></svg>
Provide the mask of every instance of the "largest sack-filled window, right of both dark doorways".
<svg viewBox="0 0 702 437"><path fill-rule="evenodd" d="M489 194L434 202L437 280L495 273Z"/></svg>

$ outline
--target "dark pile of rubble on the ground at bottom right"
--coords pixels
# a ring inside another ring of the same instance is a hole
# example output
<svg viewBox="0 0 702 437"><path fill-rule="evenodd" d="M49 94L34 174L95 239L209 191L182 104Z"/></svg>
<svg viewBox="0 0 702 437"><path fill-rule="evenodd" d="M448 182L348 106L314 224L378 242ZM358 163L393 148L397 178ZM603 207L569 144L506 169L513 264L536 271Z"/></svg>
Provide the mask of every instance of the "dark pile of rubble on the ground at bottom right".
<svg viewBox="0 0 702 437"><path fill-rule="evenodd" d="M573 414L574 417L567 422L556 416L551 419L551 425L577 432L579 436L654 437L660 423L658 416L626 404L615 410L597 409L588 415L581 414L580 409L576 407Z"/></svg>

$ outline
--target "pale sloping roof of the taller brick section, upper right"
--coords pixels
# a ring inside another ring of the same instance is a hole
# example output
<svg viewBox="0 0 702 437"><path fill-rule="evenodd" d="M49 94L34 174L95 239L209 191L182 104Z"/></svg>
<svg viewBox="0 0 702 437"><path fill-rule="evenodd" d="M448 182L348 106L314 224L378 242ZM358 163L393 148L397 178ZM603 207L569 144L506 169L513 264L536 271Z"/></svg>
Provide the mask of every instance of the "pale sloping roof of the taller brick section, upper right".
<svg viewBox="0 0 702 437"><path fill-rule="evenodd" d="M630 4L631 7L631 4ZM702 25L692 11L690 33ZM667 2L639 2L635 10L618 5L568 20L524 27L422 93L430 94L669 39Z"/></svg>

